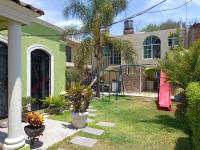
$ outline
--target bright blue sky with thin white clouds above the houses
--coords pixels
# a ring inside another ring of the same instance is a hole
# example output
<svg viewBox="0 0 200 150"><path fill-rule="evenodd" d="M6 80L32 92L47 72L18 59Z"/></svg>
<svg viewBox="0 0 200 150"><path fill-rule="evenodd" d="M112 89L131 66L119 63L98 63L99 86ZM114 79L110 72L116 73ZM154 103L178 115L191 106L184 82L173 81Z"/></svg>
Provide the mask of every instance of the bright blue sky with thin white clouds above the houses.
<svg viewBox="0 0 200 150"><path fill-rule="evenodd" d="M40 17L42 20L50 22L54 25L65 27L68 25L81 25L79 20L69 18L66 19L63 15L63 9L67 4L67 0L21 0L23 2L29 3L37 8L42 9L45 15ZM159 3L162 0L129 0L128 7L126 11L119 14L115 20L121 20L137 12L140 12L146 8L151 7ZM187 0L189 1L189 0ZM185 0L167 0L163 4L157 6L151 11L157 11L162 9L175 8L185 3ZM194 22L200 22L200 0L192 0L188 6L187 24L192 24ZM168 19L174 21L185 21L186 20L186 7L182 7L177 10L161 12L161 13L146 13L137 18L134 18L134 29L139 31L148 24L159 24ZM122 35L123 34L123 22L113 25L111 27L112 35Z"/></svg>

